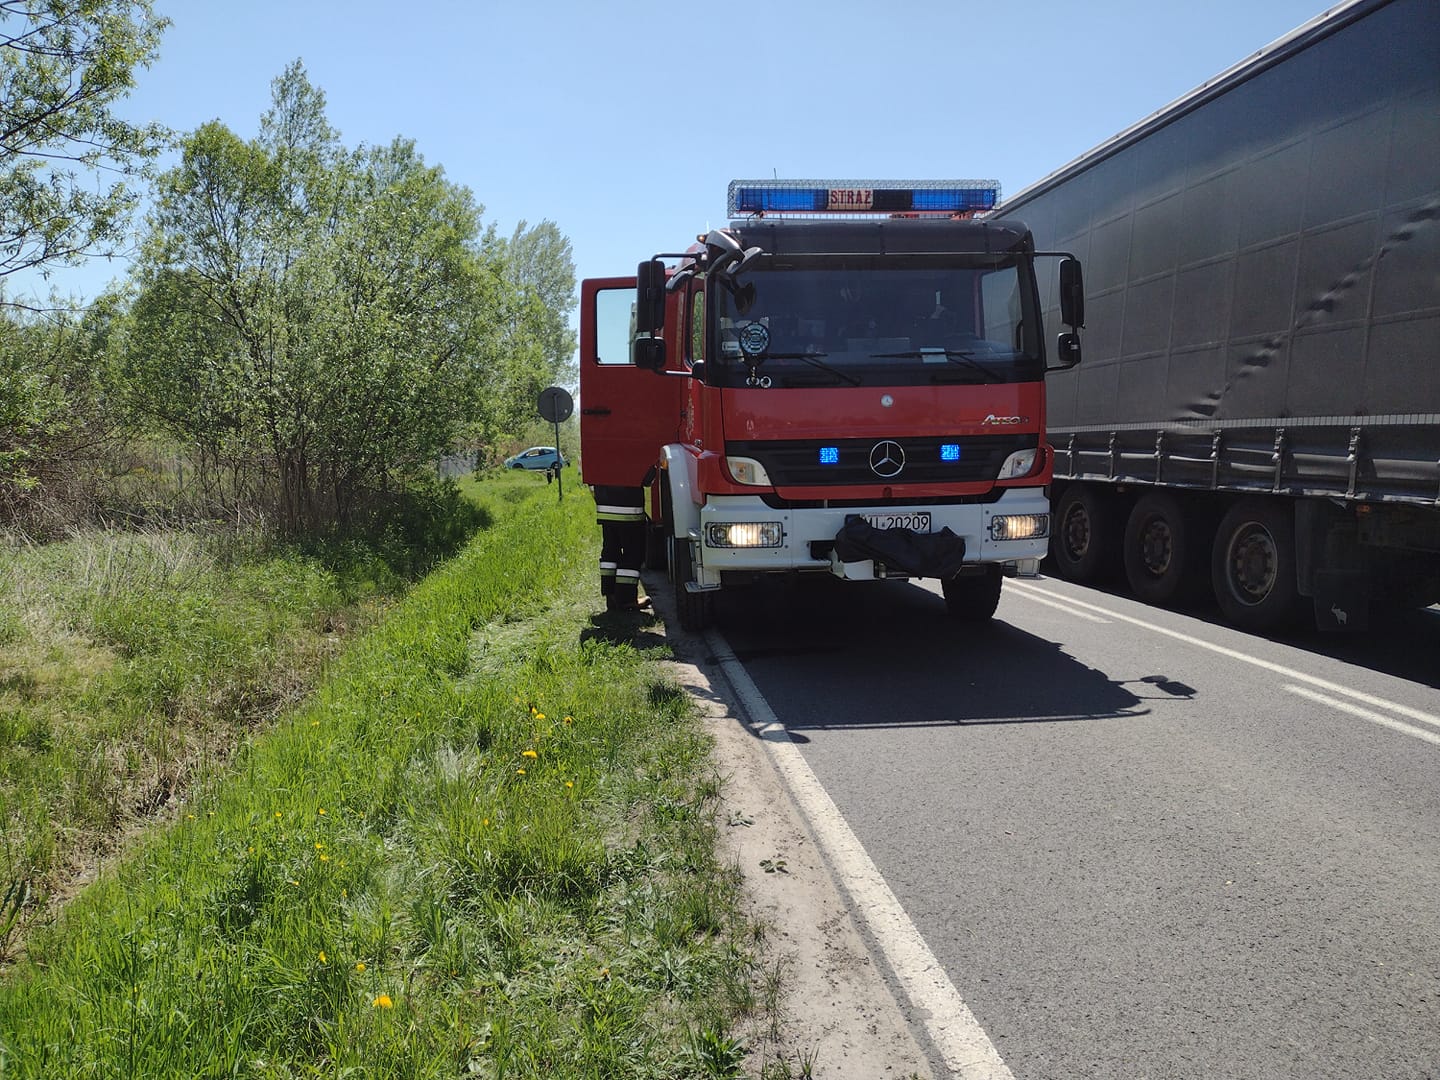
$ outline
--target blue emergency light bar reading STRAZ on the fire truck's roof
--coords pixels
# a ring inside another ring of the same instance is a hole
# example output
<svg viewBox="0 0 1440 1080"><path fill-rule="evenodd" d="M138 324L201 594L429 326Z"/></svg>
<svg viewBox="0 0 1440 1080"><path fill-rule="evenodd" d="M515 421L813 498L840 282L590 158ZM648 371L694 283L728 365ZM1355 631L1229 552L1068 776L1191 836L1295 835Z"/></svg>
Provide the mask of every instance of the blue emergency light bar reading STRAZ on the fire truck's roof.
<svg viewBox="0 0 1440 1080"><path fill-rule="evenodd" d="M969 215L999 204L998 180L732 180L729 213Z"/></svg>

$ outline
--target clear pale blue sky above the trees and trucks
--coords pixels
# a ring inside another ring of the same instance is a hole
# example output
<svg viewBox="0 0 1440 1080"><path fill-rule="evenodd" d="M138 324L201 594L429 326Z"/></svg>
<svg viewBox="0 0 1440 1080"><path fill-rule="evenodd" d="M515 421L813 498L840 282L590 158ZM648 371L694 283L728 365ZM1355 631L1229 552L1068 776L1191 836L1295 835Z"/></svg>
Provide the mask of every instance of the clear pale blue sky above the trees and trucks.
<svg viewBox="0 0 1440 1080"><path fill-rule="evenodd" d="M1322 3L157 0L173 26L121 111L248 138L300 58L347 145L413 138L503 233L549 217L605 276L723 223L737 177L1015 193ZM124 271L53 284L89 298Z"/></svg>

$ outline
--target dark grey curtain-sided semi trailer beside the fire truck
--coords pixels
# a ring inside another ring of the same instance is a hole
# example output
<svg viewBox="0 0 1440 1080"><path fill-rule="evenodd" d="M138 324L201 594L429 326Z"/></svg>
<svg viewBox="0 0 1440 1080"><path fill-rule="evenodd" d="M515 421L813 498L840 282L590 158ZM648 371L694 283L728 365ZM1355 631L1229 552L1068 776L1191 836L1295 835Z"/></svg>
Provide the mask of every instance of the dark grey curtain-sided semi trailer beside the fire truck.
<svg viewBox="0 0 1440 1080"><path fill-rule="evenodd" d="M1086 264L1047 566L1261 632L1440 599L1440 4L1339 4L998 212Z"/></svg>

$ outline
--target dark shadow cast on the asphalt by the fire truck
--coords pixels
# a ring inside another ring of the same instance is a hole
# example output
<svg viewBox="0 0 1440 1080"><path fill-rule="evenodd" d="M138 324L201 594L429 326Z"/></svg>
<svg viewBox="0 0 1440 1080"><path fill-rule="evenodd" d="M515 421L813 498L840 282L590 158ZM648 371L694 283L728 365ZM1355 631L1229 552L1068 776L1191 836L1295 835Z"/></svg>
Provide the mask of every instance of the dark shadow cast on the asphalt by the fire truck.
<svg viewBox="0 0 1440 1080"><path fill-rule="evenodd" d="M806 729L1140 719L1158 698L1195 696L1164 674L1115 678L999 618L956 624L936 593L903 582L736 592L721 598L720 631L798 740Z"/></svg>

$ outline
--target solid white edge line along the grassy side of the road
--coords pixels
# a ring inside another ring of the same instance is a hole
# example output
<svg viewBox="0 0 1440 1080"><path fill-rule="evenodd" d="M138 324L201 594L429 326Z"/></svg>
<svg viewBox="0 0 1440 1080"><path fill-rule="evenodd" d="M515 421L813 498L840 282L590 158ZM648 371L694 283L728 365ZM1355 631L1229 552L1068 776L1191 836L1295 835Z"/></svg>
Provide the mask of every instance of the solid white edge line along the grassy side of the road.
<svg viewBox="0 0 1440 1080"><path fill-rule="evenodd" d="M707 631L706 641L949 1074L962 1080L1014 1080L759 687L719 632Z"/></svg>

